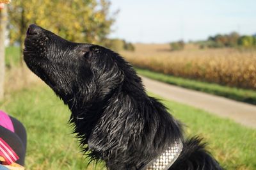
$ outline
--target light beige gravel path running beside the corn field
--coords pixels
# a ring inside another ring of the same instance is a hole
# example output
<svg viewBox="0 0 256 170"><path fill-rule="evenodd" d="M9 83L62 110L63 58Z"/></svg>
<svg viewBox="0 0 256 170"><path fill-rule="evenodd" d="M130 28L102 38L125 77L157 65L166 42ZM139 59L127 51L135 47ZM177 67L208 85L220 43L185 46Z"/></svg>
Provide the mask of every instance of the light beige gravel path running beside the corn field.
<svg viewBox="0 0 256 170"><path fill-rule="evenodd" d="M148 91L163 98L182 104L191 105L214 113L223 118L230 118L237 123L250 128L256 128L256 106L237 102L224 97L218 97L200 91L180 88L146 77L141 77Z"/></svg>

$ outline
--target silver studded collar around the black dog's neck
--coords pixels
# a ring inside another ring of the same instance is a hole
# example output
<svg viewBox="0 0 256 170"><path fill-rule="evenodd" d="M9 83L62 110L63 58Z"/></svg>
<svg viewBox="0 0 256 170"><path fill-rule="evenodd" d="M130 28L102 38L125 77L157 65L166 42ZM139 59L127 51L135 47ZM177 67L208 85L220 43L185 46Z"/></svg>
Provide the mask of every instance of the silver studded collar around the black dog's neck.
<svg viewBox="0 0 256 170"><path fill-rule="evenodd" d="M172 166L175 160L179 157L183 148L182 141L177 139L168 150L164 151L155 160L149 163L145 170L165 170Z"/></svg>

